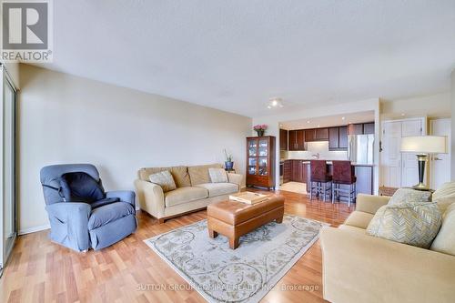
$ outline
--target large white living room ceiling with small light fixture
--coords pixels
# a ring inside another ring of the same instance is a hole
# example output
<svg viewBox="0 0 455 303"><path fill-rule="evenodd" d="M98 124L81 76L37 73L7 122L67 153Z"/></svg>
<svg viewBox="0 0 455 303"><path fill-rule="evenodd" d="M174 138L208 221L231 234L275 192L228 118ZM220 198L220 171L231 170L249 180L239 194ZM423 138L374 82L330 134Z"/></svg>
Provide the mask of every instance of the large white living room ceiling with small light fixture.
<svg viewBox="0 0 455 303"><path fill-rule="evenodd" d="M58 0L54 27L45 68L245 116L446 91L455 67L454 0Z"/></svg>

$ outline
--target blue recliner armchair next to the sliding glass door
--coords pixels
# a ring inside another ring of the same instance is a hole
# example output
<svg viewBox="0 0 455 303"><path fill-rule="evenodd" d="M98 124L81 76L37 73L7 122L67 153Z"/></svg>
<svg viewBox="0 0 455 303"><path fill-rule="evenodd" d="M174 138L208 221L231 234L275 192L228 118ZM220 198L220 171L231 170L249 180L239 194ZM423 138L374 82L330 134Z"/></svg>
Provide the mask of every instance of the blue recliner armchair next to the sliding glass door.
<svg viewBox="0 0 455 303"><path fill-rule="evenodd" d="M90 247L97 250L136 231L136 195L133 191L106 192L103 203L92 204L68 201L62 197L59 178L75 172L86 173L101 185L96 167L89 164L55 165L41 169L45 210L53 241L76 251L86 251Z"/></svg>

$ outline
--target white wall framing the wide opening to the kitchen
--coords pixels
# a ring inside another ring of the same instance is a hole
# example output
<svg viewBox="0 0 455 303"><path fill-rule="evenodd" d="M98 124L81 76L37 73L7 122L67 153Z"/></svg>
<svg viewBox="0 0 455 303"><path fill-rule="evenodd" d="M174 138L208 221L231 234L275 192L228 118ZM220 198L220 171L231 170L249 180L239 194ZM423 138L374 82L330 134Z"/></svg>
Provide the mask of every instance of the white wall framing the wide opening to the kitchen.
<svg viewBox="0 0 455 303"><path fill-rule="evenodd" d="M368 100L341 103L338 105L331 106L320 106L315 108L295 110L293 112L271 115L271 116L258 116L253 117L253 125L267 124L268 130L266 135L277 136L277 142L279 143L279 122L292 121L299 119L307 119L321 116L335 116L335 115L347 115L351 113L361 113L367 111L374 111L375 113L375 136L379 137L379 99L373 98ZM254 136L255 134L252 133ZM277 144L277 187L279 184L279 144ZM375 146L375 169L374 169L374 186L375 193L379 191L379 144Z"/></svg>

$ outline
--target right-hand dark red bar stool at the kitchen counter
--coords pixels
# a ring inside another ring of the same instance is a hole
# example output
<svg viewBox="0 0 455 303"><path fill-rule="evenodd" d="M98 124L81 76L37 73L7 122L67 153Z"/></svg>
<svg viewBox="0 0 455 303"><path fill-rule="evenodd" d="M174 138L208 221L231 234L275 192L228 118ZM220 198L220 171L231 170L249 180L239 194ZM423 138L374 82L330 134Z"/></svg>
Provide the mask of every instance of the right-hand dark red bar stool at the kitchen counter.
<svg viewBox="0 0 455 303"><path fill-rule="evenodd" d="M356 181L355 168L350 161L333 161L332 177L332 204L335 202L335 196L339 199L339 193L348 194L348 207L350 202L356 200ZM340 185L349 185L349 189L339 187Z"/></svg>

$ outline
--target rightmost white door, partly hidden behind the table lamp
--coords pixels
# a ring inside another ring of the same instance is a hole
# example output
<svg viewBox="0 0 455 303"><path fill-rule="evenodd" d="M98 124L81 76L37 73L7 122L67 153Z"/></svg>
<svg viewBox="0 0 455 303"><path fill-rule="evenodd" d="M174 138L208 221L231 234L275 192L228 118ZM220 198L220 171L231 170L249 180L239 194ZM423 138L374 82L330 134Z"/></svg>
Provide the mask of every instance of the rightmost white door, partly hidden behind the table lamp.
<svg viewBox="0 0 455 303"><path fill-rule="evenodd" d="M437 189L450 181L450 118L431 120L431 135L448 137L448 154L432 155L430 160L431 188Z"/></svg>

